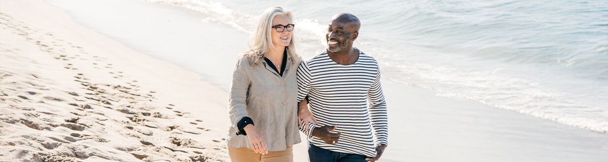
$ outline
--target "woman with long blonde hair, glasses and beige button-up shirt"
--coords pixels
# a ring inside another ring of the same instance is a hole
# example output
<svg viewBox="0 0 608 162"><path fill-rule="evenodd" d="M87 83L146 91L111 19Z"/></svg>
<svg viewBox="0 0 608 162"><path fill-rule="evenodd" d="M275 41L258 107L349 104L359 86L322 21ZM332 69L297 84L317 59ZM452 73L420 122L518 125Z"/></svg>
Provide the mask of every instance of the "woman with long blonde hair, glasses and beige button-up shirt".
<svg viewBox="0 0 608 162"><path fill-rule="evenodd" d="M228 154L232 161L293 161L300 143L295 53L290 12L268 8L230 87Z"/></svg>

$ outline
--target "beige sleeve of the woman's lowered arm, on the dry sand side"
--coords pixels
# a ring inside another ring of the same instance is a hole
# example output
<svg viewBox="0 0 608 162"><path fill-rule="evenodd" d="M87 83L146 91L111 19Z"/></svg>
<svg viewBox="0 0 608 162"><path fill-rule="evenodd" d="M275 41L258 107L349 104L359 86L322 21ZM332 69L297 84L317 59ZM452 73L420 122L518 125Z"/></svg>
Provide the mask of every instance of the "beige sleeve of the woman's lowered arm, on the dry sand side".
<svg viewBox="0 0 608 162"><path fill-rule="evenodd" d="M248 62L240 59L232 73L232 86L230 86L229 98L229 116L230 126L240 130L238 123L247 115L247 90L251 84L249 75L247 75Z"/></svg>

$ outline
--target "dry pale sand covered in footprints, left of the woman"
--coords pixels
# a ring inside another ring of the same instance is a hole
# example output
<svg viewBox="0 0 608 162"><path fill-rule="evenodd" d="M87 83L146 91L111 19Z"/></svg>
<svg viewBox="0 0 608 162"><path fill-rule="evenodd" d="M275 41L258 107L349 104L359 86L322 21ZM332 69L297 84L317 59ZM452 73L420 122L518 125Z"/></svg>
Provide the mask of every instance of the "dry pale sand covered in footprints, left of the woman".
<svg viewBox="0 0 608 162"><path fill-rule="evenodd" d="M0 161L227 161L226 96L44 2L0 1Z"/></svg>

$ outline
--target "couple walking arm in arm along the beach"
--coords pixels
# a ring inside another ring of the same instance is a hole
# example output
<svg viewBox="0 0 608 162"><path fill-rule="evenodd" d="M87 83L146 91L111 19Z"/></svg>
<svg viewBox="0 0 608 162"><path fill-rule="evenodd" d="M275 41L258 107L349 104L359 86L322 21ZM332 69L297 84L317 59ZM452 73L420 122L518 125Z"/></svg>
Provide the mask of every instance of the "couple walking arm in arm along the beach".
<svg viewBox="0 0 608 162"><path fill-rule="evenodd" d="M377 161L388 138L378 62L353 47L359 19L331 19L327 49L303 61L291 12L268 8L237 61L230 87L232 161L293 161L299 131L309 160Z"/></svg>

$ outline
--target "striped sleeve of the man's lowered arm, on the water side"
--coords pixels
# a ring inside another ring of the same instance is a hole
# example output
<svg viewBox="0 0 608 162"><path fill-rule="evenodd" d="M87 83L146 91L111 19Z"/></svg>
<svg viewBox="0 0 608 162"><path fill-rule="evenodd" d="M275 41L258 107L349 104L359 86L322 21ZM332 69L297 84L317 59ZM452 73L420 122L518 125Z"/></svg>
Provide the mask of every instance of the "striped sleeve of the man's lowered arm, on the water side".
<svg viewBox="0 0 608 162"><path fill-rule="evenodd" d="M382 93L382 84L380 83L380 69L378 69L376 79L367 92L367 99L370 103L370 120L373 133L376 136L376 145L388 144L389 118L387 116L386 101Z"/></svg>

